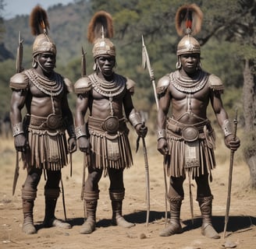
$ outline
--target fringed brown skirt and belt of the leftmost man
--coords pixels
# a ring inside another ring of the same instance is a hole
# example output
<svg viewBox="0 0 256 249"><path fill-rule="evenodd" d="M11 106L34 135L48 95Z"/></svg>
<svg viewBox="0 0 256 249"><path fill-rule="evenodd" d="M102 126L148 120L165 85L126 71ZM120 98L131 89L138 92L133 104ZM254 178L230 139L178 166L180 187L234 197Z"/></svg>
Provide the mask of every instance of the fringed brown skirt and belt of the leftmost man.
<svg viewBox="0 0 256 249"><path fill-rule="evenodd" d="M24 167L61 170L68 163L68 147L63 123L59 120L59 125L57 125L53 121L56 128L52 129L43 119L47 120L44 117L27 116L29 149L26 155L23 155Z"/></svg>

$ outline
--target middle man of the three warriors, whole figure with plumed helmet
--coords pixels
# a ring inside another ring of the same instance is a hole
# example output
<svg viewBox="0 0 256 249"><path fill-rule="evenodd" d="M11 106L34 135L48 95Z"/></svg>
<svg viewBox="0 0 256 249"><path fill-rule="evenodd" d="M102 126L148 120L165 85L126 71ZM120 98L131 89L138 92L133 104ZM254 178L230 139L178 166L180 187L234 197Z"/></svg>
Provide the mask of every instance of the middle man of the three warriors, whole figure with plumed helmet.
<svg viewBox="0 0 256 249"><path fill-rule="evenodd" d="M92 233L95 230L98 181L102 174L110 180L112 224L127 228L134 226L122 216L125 196L123 170L133 164L126 118L142 138L148 128L133 107L135 83L113 70L116 65L116 47L110 40L112 35L112 16L108 12L96 12L87 33L88 40L94 44L94 72L80 78L75 84L76 139L88 162L88 176L82 189L87 219L80 233ZM85 121L87 111L88 118Z"/></svg>

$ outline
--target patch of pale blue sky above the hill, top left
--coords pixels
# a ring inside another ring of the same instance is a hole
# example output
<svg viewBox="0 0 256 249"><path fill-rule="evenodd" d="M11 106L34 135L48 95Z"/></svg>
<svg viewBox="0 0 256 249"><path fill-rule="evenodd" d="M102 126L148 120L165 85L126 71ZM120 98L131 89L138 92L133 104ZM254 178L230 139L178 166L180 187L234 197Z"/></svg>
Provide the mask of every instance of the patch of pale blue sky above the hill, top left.
<svg viewBox="0 0 256 249"><path fill-rule="evenodd" d="M52 5L61 3L67 5L73 0L4 0L4 11L2 17L4 19L12 19L16 15L30 15L35 5L40 4L42 8L47 10Z"/></svg>

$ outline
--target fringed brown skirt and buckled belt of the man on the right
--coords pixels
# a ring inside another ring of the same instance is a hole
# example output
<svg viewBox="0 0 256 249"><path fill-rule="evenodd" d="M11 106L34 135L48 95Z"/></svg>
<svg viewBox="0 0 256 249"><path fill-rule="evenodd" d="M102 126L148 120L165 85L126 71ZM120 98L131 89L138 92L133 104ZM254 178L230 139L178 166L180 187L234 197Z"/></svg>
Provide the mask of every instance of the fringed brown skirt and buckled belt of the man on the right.
<svg viewBox="0 0 256 249"><path fill-rule="evenodd" d="M215 133L210 121L184 125L169 118L166 125L169 155L166 156L168 176L192 178L209 174L215 167Z"/></svg>

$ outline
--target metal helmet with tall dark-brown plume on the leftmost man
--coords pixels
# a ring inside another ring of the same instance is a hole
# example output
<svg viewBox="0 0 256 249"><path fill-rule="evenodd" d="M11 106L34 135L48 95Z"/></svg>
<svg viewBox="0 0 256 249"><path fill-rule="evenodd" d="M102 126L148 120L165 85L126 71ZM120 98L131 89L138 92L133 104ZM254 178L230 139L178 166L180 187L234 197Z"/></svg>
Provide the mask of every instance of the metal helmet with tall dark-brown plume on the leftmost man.
<svg viewBox="0 0 256 249"><path fill-rule="evenodd" d="M31 33L36 36L33 44L33 56L44 52L57 53L55 44L48 37L50 25L47 12L40 5L35 6L30 13L30 29Z"/></svg>

